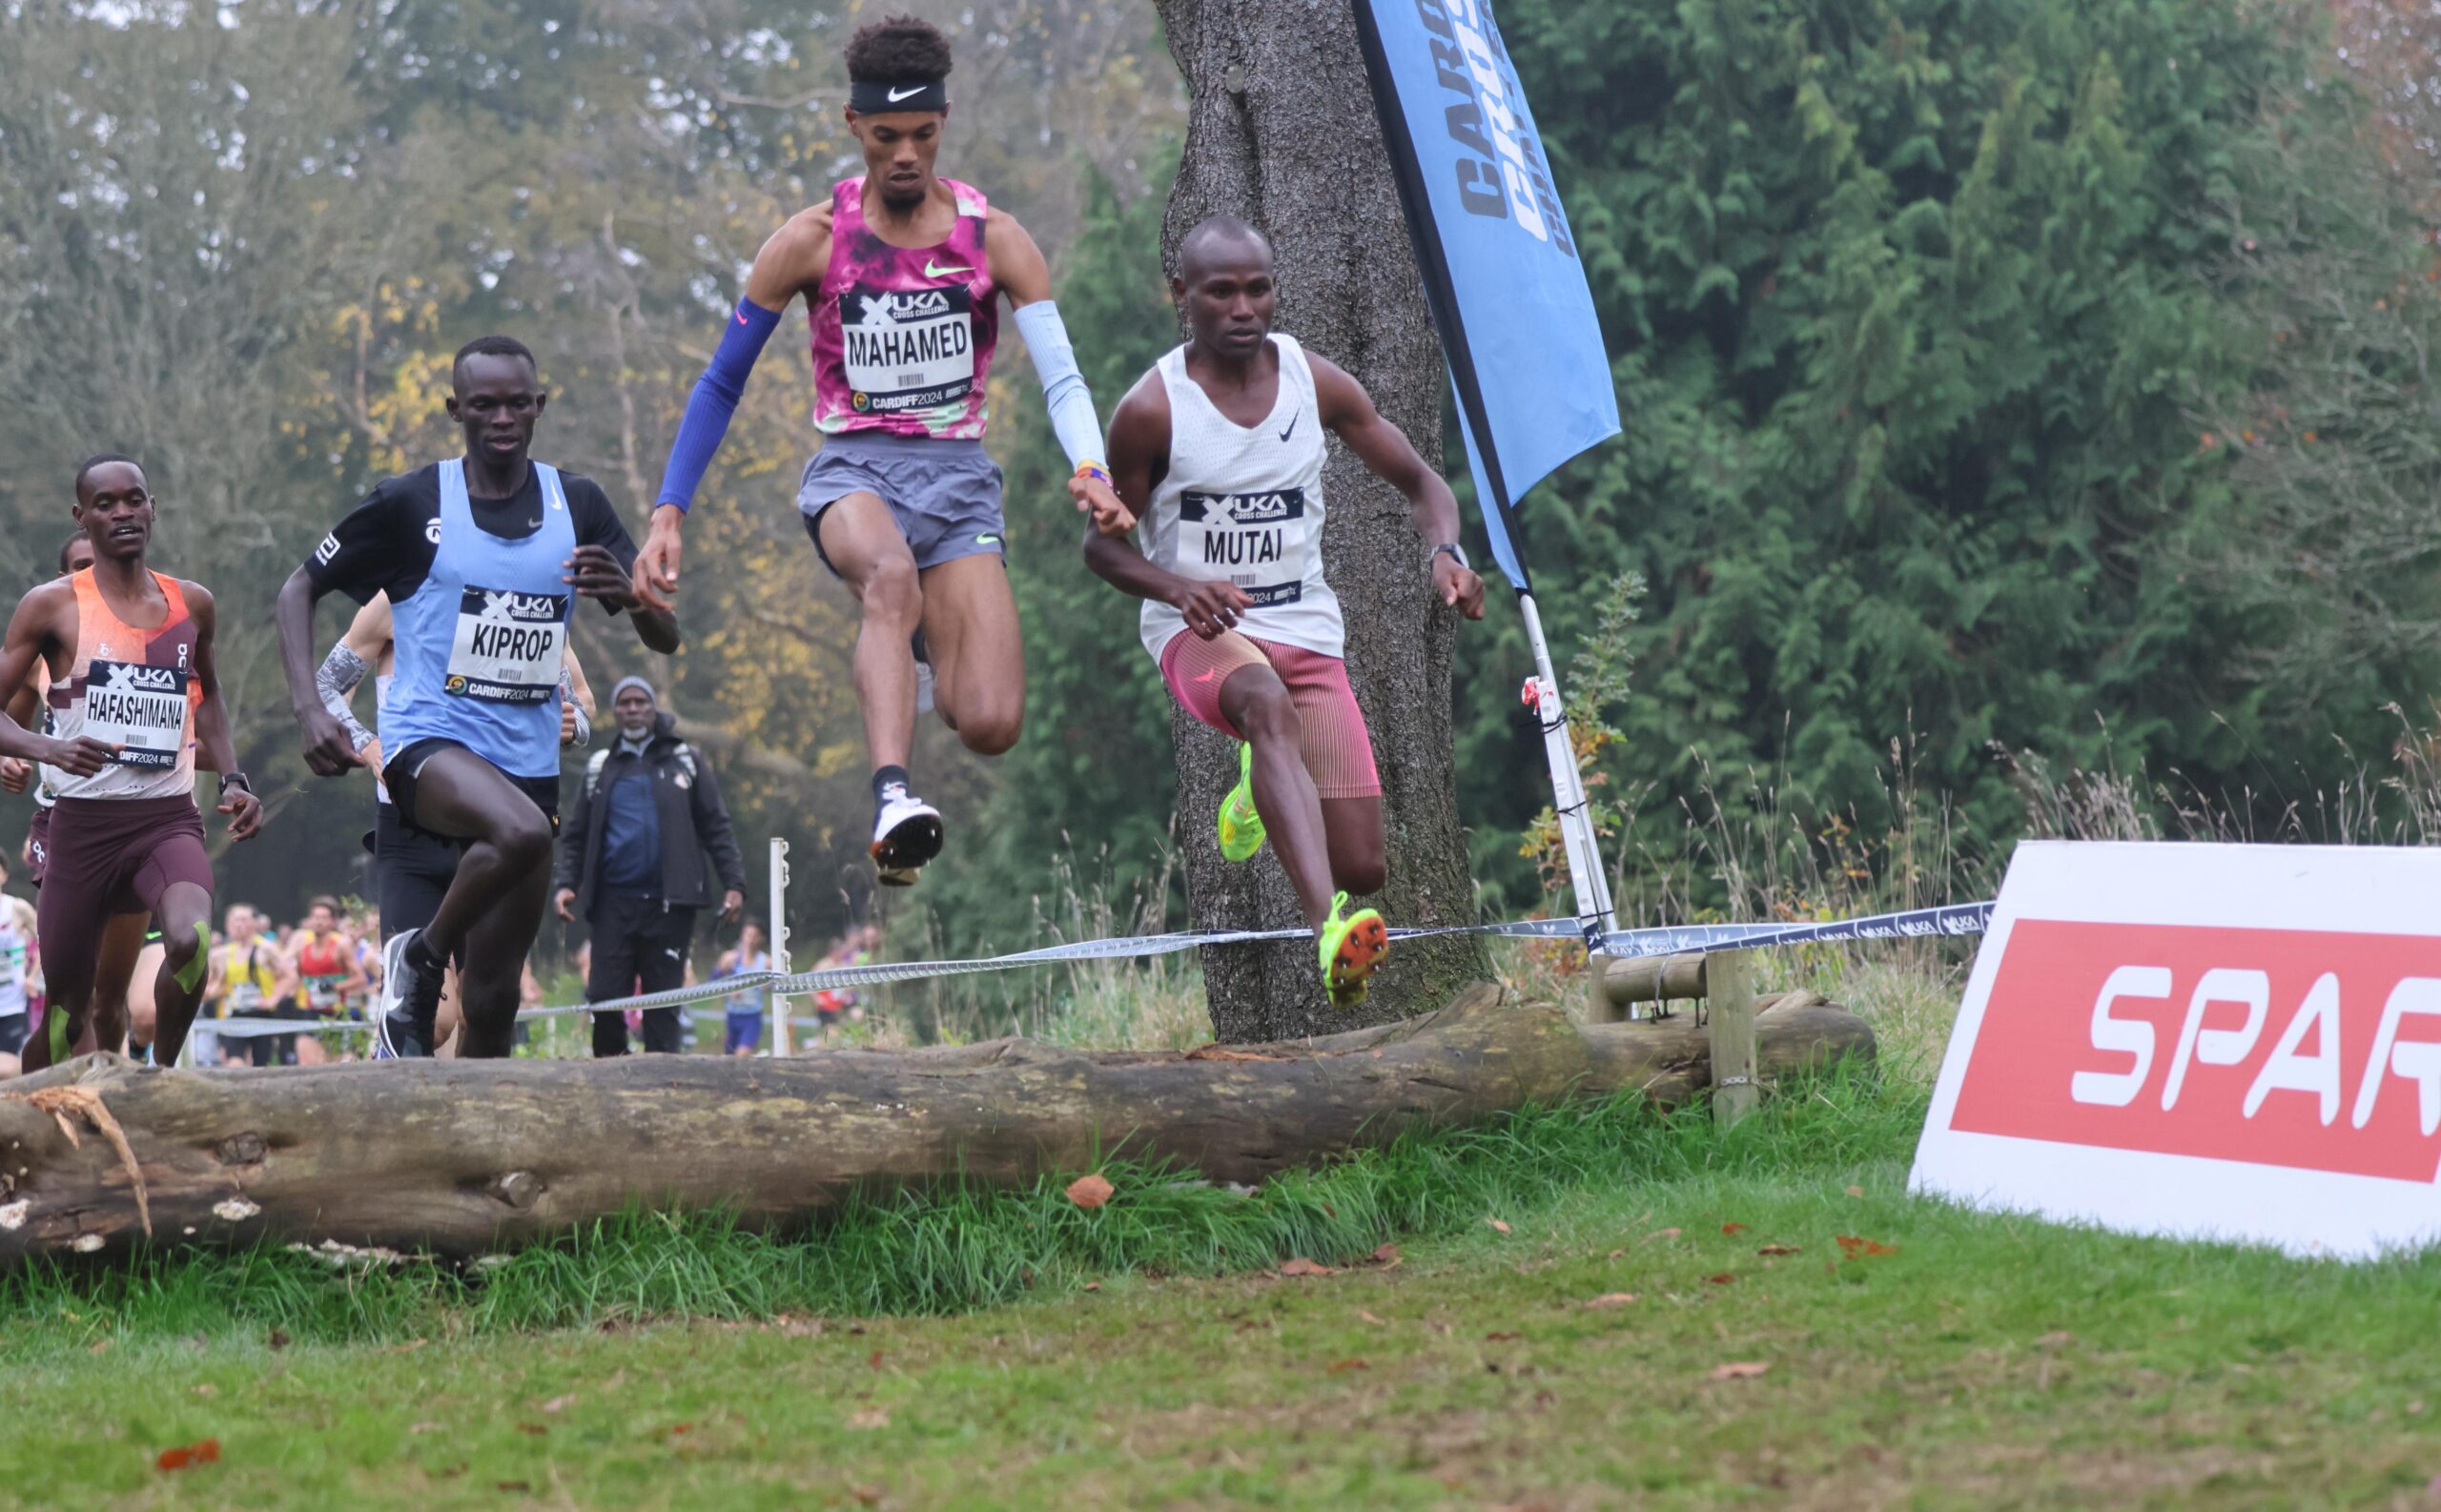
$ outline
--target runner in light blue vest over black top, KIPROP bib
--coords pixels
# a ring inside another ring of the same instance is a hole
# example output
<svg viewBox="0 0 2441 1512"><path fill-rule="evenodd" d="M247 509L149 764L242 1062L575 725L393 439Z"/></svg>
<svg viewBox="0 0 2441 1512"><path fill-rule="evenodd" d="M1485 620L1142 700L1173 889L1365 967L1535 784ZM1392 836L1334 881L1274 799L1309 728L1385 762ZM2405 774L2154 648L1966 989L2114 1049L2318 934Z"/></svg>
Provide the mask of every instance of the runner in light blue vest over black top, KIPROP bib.
<svg viewBox="0 0 2441 1512"><path fill-rule="evenodd" d="M452 954L464 961L459 1054L510 1051L552 883L566 619L574 597L613 615L635 605L635 549L610 502L527 458L544 402L532 351L508 337L469 341L449 395L466 456L376 488L281 588L281 666L305 763L325 778L364 758L315 690L312 607L332 588L356 602L391 595L391 800L405 824L466 841L432 922L381 954L378 1022L403 1015L403 1054L430 1054ZM649 649L679 649L666 612L632 619Z"/></svg>

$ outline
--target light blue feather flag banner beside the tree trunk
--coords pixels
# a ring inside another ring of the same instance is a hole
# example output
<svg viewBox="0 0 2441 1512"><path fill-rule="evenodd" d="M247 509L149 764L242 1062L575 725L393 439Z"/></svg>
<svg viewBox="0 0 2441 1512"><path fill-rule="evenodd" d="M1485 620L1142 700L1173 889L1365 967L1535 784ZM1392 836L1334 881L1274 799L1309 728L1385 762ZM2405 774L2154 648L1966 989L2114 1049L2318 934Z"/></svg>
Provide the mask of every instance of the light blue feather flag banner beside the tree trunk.
<svg viewBox="0 0 2441 1512"><path fill-rule="evenodd" d="M1618 434L1594 293L1491 5L1355 0L1355 12L1491 556L1531 590L1518 500Z"/></svg>

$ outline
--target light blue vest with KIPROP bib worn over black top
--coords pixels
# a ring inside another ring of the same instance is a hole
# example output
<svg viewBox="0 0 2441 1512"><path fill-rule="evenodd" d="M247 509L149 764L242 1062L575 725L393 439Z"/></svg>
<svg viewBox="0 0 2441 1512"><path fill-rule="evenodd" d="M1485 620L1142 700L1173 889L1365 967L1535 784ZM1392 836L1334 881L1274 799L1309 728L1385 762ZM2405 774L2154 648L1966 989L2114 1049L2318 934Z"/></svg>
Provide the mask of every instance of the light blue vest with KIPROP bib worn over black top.
<svg viewBox="0 0 2441 1512"><path fill-rule="evenodd" d="M442 537L432 576L391 605L395 676L381 705L381 749L452 739L513 778L559 776L559 661L576 595L561 580L576 519L559 471L542 480L542 529L508 541L474 522L466 463L442 473Z"/></svg>

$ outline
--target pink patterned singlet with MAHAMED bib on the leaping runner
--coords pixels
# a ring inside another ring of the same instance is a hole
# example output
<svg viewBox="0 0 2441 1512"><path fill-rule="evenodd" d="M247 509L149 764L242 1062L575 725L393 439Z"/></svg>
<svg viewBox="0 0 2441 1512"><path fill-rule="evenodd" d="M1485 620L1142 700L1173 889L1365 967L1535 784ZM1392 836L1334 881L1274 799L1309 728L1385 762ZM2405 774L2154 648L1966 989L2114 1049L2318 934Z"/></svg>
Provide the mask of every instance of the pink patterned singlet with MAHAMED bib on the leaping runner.
<svg viewBox="0 0 2441 1512"><path fill-rule="evenodd" d="M981 190L952 178L957 229L937 246L891 246L864 222L864 178L830 190L830 268L813 300L813 424L837 437L981 439L984 380L1001 339L984 256Z"/></svg>

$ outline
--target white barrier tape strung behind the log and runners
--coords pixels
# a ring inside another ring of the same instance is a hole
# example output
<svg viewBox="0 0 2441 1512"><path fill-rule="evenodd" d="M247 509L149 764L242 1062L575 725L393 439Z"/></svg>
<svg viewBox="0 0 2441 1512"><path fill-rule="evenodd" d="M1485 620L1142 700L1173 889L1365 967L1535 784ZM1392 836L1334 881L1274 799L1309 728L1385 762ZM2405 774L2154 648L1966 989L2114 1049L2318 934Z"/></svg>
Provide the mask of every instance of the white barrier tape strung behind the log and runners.
<svg viewBox="0 0 2441 1512"><path fill-rule="evenodd" d="M1989 902L1955 902L1945 907L1919 907L1894 915L1865 915L1858 919L1826 919L1819 924L1667 924L1657 929L1616 929L1601 936L1601 954L1614 958L1682 956L1687 951L1753 951L1765 946L1821 944L1841 939L1926 939L1943 934L1982 934L1992 922ZM1428 939L1440 934L1484 934L1496 939L1579 939L1579 919L1518 919L1511 924L1450 924L1438 929L1391 929L1391 939ZM610 997L605 1002L559 1002L527 1007L517 1019L554 1019L588 1012L632 1012L654 1007L681 1007L713 997L742 993L776 993L781 997L806 997L827 988L869 988L879 983L910 983L942 975L979 975L986 971L1018 971L1023 966L1062 966L1076 961L1135 961L1147 956L1174 956L1220 944L1257 944L1272 939L1311 939L1308 929L1225 929L1199 934L1179 929L1169 934L1133 934L1120 939L1079 939L1072 944L1018 951L1013 956L979 956L969 961L876 961L869 966L832 966L825 971L752 971L723 975L693 988L644 993L637 997ZM330 1034L334 1029L369 1029L359 1019L198 1019L195 1029L247 1039L259 1034Z"/></svg>

